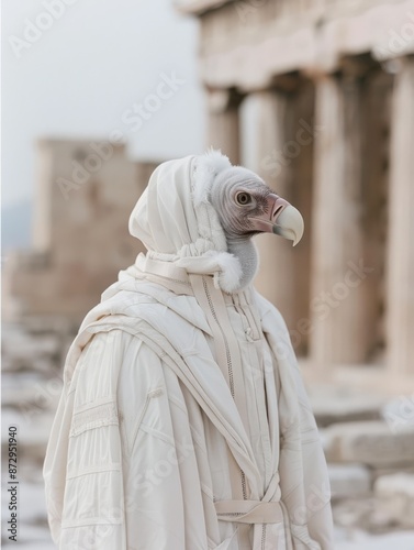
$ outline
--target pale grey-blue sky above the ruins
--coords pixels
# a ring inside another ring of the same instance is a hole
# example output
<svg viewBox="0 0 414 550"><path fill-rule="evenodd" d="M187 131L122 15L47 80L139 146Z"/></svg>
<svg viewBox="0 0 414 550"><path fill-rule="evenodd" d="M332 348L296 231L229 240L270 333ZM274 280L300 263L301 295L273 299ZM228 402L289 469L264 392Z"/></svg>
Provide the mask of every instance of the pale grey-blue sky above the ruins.
<svg viewBox="0 0 414 550"><path fill-rule="evenodd" d="M2 205L33 196L37 138L120 131L134 158L201 153L197 47L172 0L3 0Z"/></svg>

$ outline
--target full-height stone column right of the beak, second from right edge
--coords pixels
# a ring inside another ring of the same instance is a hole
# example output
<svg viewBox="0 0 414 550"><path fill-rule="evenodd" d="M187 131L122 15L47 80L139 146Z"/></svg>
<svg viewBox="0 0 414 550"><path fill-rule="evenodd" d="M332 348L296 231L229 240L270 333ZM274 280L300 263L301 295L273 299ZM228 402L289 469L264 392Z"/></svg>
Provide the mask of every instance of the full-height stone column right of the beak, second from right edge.
<svg viewBox="0 0 414 550"><path fill-rule="evenodd" d="M311 359L321 369L367 359L360 84L357 75L316 82Z"/></svg>

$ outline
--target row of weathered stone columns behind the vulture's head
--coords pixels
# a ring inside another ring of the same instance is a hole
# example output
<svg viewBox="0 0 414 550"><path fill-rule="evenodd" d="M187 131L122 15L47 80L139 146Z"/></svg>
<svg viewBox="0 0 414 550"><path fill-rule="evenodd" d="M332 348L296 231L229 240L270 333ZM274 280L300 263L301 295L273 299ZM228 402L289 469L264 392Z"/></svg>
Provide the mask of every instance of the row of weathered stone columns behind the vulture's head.
<svg viewBox="0 0 414 550"><path fill-rule="evenodd" d="M355 58L311 86L254 92L253 167L307 229L294 250L260 235L257 286L322 370L382 344L390 370L414 372L414 58L396 64L391 77ZM214 94L209 144L239 163L240 96Z"/></svg>

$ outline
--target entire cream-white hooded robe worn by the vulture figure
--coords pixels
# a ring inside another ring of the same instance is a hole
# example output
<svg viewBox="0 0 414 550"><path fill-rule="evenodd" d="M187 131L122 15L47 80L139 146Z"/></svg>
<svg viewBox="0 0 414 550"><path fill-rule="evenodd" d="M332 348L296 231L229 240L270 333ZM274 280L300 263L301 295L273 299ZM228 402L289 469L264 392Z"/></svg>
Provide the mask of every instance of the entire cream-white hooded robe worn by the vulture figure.
<svg viewBox="0 0 414 550"><path fill-rule="evenodd" d="M61 550L331 550L326 463L288 331L226 252L224 156L160 165L148 249L83 320L44 465Z"/></svg>

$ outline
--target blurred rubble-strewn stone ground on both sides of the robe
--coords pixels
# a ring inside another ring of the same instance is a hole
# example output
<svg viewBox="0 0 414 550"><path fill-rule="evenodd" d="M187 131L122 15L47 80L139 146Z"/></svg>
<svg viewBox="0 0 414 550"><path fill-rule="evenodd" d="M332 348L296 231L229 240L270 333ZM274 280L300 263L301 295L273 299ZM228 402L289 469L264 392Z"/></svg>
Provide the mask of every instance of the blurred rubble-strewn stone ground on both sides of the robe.
<svg viewBox="0 0 414 550"><path fill-rule="evenodd" d="M8 427L19 429L19 541L2 548L52 550L42 463L61 388L67 336L3 330L2 458ZM35 365L33 369L32 365ZM328 458L337 550L414 550L414 400L325 387L311 400ZM2 480L7 480L3 472ZM3 518L8 493L2 486Z"/></svg>

